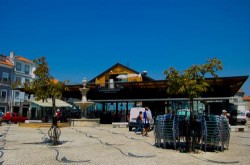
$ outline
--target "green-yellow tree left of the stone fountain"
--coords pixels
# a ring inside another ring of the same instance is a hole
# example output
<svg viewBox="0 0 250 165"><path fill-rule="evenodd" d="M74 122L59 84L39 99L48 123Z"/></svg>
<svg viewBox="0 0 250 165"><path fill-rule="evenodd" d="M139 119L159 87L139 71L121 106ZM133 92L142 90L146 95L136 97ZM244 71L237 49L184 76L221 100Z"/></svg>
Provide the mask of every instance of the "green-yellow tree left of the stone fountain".
<svg viewBox="0 0 250 165"><path fill-rule="evenodd" d="M36 64L34 74L36 79L33 82L23 84L24 91L33 93L36 100L47 101L52 99L52 114L56 112L56 98L62 96L62 92L66 90L68 81L60 82L49 73L49 66L45 57L40 57L33 61Z"/></svg>

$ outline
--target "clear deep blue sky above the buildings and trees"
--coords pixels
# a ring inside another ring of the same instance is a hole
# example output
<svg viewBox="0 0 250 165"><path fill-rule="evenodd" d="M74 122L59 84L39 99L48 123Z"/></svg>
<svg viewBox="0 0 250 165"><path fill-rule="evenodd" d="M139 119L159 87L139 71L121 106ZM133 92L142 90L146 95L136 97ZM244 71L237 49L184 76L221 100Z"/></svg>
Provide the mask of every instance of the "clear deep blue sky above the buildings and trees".
<svg viewBox="0 0 250 165"><path fill-rule="evenodd" d="M51 75L72 83L117 62L161 80L213 57L219 76L249 75L250 1L0 0L0 54L10 51L46 56Z"/></svg>

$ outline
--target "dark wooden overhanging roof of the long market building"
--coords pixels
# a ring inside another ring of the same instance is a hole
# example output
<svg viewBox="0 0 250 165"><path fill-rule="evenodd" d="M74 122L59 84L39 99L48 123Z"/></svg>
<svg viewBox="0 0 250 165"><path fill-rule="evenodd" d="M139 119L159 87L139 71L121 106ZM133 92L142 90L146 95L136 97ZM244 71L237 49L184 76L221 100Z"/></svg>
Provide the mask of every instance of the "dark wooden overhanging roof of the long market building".
<svg viewBox="0 0 250 165"><path fill-rule="evenodd" d="M242 87L248 76L237 77L220 77L207 78L210 83L210 88L203 93L201 97L231 97L234 96ZM169 95L167 94L168 81L167 80L153 80L144 82L117 82L119 88L114 89L100 89L95 83L88 83L87 88L89 92L87 98L91 100L105 100L105 99L150 99L150 98L183 98L186 96ZM64 96L74 95L76 98L81 98L79 88L82 85L69 85Z"/></svg>

